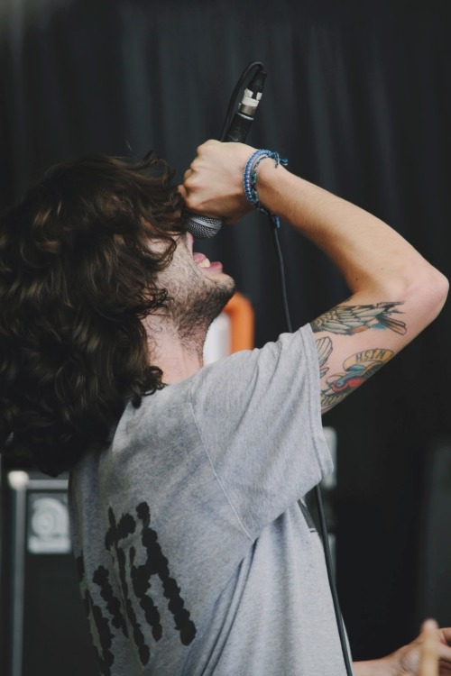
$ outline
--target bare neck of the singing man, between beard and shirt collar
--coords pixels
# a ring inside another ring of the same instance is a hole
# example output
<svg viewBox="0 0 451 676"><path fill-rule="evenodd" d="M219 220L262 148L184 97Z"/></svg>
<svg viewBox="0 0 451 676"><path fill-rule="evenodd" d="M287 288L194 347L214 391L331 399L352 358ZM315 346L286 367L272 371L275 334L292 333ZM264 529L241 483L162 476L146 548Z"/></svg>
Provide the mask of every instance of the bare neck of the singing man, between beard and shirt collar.
<svg viewBox="0 0 451 676"><path fill-rule="evenodd" d="M162 372L162 382L170 385L193 376L204 365L203 350L207 332L180 336L170 322L152 315L144 320L150 362Z"/></svg>

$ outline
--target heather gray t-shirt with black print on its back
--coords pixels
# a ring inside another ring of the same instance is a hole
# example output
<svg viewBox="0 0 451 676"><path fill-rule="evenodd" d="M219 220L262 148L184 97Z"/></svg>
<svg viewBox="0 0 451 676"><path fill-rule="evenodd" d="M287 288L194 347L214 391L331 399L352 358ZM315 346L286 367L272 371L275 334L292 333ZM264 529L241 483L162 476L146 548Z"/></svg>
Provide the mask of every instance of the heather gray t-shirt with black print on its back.
<svg viewBox="0 0 451 676"><path fill-rule="evenodd" d="M70 477L101 673L345 675L297 502L331 470L308 325L129 404Z"/></svg>

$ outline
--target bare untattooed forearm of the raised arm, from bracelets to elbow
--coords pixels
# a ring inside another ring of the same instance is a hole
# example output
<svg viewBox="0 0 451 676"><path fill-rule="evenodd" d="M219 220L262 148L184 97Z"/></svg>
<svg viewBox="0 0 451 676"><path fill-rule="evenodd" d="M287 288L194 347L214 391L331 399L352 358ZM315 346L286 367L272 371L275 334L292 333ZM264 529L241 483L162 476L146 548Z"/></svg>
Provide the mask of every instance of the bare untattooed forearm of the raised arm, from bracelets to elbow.
<svg viewBox="0 0 451 676"><path fill-rule="evenodd" d="M352 291L410 280L411 269L440 275L389 225L299 178L272 160L258 169L259 199L327 253Z"/></svg>

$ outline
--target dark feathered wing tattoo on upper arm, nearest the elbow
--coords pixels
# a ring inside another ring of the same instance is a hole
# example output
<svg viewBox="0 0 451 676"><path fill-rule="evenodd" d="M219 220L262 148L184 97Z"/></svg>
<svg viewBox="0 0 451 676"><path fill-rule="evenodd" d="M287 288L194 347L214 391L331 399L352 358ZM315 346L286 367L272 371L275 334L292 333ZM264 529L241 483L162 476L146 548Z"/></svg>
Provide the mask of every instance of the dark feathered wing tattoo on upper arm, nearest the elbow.
<svg viewBox="0 0 451 676"><path fill-rule="evenodd" d="M367 329L390 329L404 335L407 332L406 324L393 317L401 314L400 310L396 309L400 305L402 302L376 303L373 306L340 305L325 312L310 325L314 333L329 331L353 335Z"/></svg>

